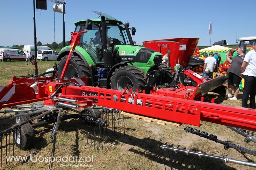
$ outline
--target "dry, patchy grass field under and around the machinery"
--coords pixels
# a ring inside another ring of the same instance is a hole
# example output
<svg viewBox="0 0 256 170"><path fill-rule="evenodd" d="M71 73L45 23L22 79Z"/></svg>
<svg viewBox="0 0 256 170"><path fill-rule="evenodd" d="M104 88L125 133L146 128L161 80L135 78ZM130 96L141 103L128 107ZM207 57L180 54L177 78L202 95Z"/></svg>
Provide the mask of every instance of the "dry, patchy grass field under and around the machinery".
<svg viewBox="0 0 256 170"><path fill-rule="evenodd" d="M54 65L54 61L39 61L38 70L44 72ZM26 62L4 62L0 63L0 85L7 85L12 80L12 75L19 77L28 73L34 73L34 66ZM241 106L242 92L239 93L238 100L230 101L226 98L210 93L210 98L215 98L216 103L231 106ZM218 139L229 140L234 144L238 144L247 149L256 151L256 145L250 142L244 143L241 135L227 129L225 126L213 124L209 122L201 122L201 127L190 126L201 131L208 132L218 136ZM1 122L0 129L10 127L13 120ZM123 124L122 124L123 125ZM124 126L124 125L123 125ZM200 151L215 156L228 156L232 159L240 159L244 161L256 161L256 158L241 153L234 149L225 150L223 145L201 138L191 133L185 132L184 128L188 126L183 124L179 127L173 125L159 125L156 122L144 122L141 120L126 117L125 136L112 137L107 136L108 142L104 144L103 154L98 153L87 144L87 138L84 131L87 126L82 120L71 119L60 123L60 132L57 136L55 157L60 156L92 156L93 162L87 163L92 165L93 169L164 169L162 154L160 151L161 144L168 144L182 149ZM36 151L36 156L50 156L52 150L52 140L50 139L52 124L40 128L42 132L36 135L35 146L28 151L21 151L21 155L28 155L32 151ZM4 152L5 153L5 152ZM165 153L165 156L166 155ZM179 155L174 155L175 159L179 159ZM186 159L188 169L198 169L198 165L202 169L253 169L250 167L240 166L236 164L227 164L223 166L220 162L188 157ZM168 159L165 160L168 163ZM54 162L52 169L80 169L81 167L72 167L65 165L78 165L78 163L58 163ZM13 162L5 169L48 169L48 162ZM92 169L90 167L86 167ZM166 166L171 169L170 166Z"/></svg>

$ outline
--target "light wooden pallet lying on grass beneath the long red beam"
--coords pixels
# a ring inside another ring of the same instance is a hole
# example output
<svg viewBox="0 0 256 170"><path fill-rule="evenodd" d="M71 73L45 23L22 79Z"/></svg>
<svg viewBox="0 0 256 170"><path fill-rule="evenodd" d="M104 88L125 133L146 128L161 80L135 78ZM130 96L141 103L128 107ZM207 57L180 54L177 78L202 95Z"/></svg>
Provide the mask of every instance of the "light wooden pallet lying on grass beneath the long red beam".
<svg viewBox="0 0 256 170"><path fill-rule="evenodd" d="M159 120L159 119L154 119L154 118L141 116L141 115L136 115L136 114L131 114L131 113L126 113L126 112L121 112L121 114L131 116L132 119L136 119L136 120L143 119L145 122L156 122L157 124L161 124L161 125L166 125L166 124L175 125L175 126L182 125L182 123L168 122L168 121L163 121L163 120Z"/></svg>

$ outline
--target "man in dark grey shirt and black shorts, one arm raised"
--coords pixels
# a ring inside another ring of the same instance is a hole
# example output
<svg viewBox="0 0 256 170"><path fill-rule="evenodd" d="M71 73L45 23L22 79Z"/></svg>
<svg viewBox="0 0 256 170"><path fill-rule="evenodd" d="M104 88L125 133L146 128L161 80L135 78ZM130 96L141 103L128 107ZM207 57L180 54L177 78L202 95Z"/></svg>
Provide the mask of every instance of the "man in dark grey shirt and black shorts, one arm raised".
<svg viewBox="0 0 256 170"><path fill-rule="evenodd" d="M230 63L230 67L228 69L228 95L230 97L229 100L237 100L237 95L239 93L239 85L241 83L242 78L240 77L242 63L244 61L245 56L245 47L241 46L237 48L237 54L232 60L229 58L229 53L226 51L227 61ZM234 89L234 97L232 97L232 90Z"/></svg>

